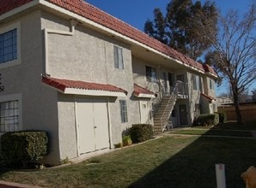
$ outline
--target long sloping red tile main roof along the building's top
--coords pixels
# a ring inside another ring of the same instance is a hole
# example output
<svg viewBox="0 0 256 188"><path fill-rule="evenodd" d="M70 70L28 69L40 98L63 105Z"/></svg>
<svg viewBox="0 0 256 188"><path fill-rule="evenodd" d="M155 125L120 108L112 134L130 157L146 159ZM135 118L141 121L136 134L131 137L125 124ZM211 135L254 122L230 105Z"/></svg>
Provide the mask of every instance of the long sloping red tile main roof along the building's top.
<svg viewBox="0 0 256 188"><path fill-rule="evenodd" d="M22 4L31 2L32 0L0 0L0 4L4 5L0 8L0 15L3 13L8 12L11 9L15 9ZM119 32L125 35L128 38L134 39L141 44L145 44L155 50L162 52L163 54L173 57L174 59L179 60L180 62L184 62L193 68L198 68L204 71L204 67L201 63L195 62L188 56L185 56L170 48L166 44L162 44L160 41L156 40L155 38L149 37L149 35L145 34L144 32L139 31L133 26L125 23L124 21L120 21L119 19L113 17L112 15L107 14L106 12L92 6L89 3L86 3L82 0L46 0L47 2L56 4L57 6L67 9L77 15L81 15L88 20L94 21L102 26L106 26L112 29L115 32ZM210 73L216 75L213 69L209 69Z"/></svg>

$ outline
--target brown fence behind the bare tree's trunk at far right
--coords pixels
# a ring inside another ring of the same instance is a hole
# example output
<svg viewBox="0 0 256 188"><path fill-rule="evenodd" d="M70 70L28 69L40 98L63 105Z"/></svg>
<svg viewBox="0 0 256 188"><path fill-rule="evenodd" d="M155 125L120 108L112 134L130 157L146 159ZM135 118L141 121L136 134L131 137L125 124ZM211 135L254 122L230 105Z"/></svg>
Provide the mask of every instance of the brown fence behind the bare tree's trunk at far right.
<svg viewBox="0 0 256 188"><path fill-rule="evenodd" d="M242 120L256 120L256 103L241 104ZM236 120L235 106L220 106L218 112L225 112L227 120Z"/></svg>

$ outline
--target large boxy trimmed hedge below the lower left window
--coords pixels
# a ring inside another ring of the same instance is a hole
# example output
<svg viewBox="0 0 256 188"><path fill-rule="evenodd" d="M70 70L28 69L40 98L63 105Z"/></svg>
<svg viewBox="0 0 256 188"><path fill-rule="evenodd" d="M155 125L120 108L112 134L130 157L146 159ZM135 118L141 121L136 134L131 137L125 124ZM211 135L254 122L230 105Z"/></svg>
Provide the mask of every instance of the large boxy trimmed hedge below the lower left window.
<svg viewBox="0 0 256 188"><path fill-rule="evenodd" d="M48 137L46 132L21 131L6 132L1 137L1 152L7 164L37 162L47 154Z"/></svg>

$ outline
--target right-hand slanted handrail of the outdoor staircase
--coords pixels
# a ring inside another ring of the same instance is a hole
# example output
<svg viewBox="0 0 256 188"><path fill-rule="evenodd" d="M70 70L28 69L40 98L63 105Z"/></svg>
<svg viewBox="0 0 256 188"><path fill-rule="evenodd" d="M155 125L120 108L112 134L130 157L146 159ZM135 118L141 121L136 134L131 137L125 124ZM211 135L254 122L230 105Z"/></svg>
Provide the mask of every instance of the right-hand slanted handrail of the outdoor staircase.
<svg viewBox="0 0 256 188"><path fill-rule="evenodd" d="M168 103L167 103L167 105L166 105L166 107L165 107L165 109L162 113L162 116L161 116L161 119L160 119L162 130L165 129L165 126L168 123L169 116L172 113L172 108L174 108L174 103L177 100L178 87L179 87L180 84L183 84L183 82L178 80L176 82L176 84L174 85L174 91L172 91L170 97L168 98ZM173 103L171 103L171 102L173 102Z"/></svg>

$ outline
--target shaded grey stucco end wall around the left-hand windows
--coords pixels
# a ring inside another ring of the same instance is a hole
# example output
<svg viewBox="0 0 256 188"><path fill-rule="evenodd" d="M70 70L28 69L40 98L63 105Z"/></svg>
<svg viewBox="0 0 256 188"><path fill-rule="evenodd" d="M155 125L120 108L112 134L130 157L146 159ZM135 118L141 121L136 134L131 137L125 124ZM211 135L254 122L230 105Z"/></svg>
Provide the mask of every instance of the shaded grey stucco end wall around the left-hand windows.
<svg viewBox="0 0 256 188"><path fill-rule="evenodd" d="M21 93L21 130L48 132L51 144L45 162L58 163L57 93L41 83L44 57L40 11L20 16L13 22L21 25L21 64L1 69L4 91L0 97Z"/></svg>

